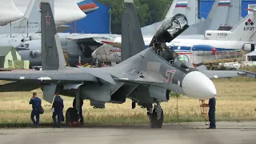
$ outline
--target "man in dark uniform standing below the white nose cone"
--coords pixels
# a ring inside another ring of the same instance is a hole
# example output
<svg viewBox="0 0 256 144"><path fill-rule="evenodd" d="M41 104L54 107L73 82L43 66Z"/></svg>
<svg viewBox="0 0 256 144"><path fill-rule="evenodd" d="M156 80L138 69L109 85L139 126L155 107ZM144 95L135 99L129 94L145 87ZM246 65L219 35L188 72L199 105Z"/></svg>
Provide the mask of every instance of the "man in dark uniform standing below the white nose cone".
<svg viewBox="0 0 256 144"><path fill-rule="evenodd" d="M216 129L215 125L215 106L216 106L216 100L215 98L209 99L209 121L210 121L210 127L208 129Z"/></svg>

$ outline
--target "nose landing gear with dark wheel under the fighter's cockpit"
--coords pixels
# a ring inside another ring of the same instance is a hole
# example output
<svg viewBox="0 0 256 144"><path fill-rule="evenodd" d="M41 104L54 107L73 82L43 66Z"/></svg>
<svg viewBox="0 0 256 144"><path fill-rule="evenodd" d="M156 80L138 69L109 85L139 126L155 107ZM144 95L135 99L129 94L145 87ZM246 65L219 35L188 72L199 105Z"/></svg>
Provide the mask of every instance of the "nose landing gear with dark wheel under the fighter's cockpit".
<svg viewBox="0 0 256 144"><path fill-rule="evenodd" d="M161 108L160 102L158 101L156 105L154 105L154 109L148 108L147 115L150 118L150 126L151 128L162 128L163 123L163 110Z"/></svg>

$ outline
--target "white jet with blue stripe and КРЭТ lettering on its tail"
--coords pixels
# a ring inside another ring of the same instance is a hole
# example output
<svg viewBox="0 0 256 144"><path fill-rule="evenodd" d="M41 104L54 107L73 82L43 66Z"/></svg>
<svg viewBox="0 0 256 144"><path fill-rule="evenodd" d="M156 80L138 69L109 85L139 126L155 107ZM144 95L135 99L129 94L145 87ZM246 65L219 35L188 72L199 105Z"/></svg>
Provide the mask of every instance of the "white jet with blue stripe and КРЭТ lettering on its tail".
<svg viewBox="0 0 256 144"><path fill-rule="evenodd" d="M255 26L256 12L253 11L230 31L206 30L204 38L175 38L172 42L167 42L166 46L173 47L179 54L189 55L190 61L194 63L230 58L230 54L237 56L237 51L240 50L254 51ZM152 38L144 38L146 47L150 46ZM121 50L119 48L122 46L122 38L115 38L114 42L103 42L106 44L94 50L92 57L101 62L121 62Z"/></svg>

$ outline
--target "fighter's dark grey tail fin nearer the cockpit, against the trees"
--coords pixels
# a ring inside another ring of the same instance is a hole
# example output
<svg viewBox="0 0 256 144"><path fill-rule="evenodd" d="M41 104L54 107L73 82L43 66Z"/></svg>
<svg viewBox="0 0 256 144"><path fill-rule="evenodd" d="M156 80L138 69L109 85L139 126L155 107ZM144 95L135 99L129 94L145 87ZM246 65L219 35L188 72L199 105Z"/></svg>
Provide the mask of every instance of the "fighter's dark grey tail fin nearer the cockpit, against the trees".
<svg viewBox="0 0 256 144"><path fill-rule="evenodd" d="M125 10L122 14L122 61L145 50L145 43L134 7L134 0L124 0L124 2Z"/></svg>

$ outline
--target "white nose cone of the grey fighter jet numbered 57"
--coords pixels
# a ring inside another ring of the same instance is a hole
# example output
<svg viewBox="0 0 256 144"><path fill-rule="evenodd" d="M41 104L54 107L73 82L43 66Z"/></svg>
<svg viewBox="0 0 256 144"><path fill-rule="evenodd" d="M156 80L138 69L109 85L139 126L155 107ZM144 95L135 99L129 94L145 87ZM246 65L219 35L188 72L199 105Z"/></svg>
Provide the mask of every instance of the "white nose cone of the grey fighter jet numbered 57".
<svg viewBox="0 0 256 144"><path fill-rule="evenodd" d="M210 99L217 95L214 82L199 71L186 74L182 80L182 89L186 96L197 99Z"/></svg>

